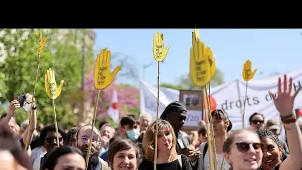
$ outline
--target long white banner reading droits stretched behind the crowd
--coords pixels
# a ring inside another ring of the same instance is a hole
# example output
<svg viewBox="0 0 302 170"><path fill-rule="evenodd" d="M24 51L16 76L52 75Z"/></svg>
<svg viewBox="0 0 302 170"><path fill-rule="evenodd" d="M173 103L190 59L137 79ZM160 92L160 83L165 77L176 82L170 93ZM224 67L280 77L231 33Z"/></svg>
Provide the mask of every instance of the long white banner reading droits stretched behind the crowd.
<svg viewBox="0 0 302 170"><path fill-rule="evenodd" d="M293 91L297 90L302 85L302 69L288 73L288 80L293 78ZM268 91L277 92L278 77L283 75L267 77L263 79L251 80L248 82L247 100L244 116L244 127L249 127L249 117L254 112L259 112L265 116L265 120L279 117L274 103L268 94ZM146 82L140 82L141 88L141 113L148 112L152 115L152 119L156 117L157 106L157 89ZM245 82L235 80L230 83L225 83L211 88L211 96L217 103L216 109L224 109L229 115L229 119L233 123L233 129L242 128L242 111L245 98ZM295 100L295 109L302 108L302 92L298 94ZM164 108L172 101L179 100L179 91L169 88L160 87L159 95L159 116ZM200 112L201 113L201 112ZM191 112L188 114L198 114ZM200 114L199 114L200 115ZM198 121L201 116L198 115ZM197 115L195 115L196 117ZM187 115L188 117L188 115ZM197 122L198 123L198 122ZM195 126L196 122L189 123L186 121L185 126Z"/></svg>

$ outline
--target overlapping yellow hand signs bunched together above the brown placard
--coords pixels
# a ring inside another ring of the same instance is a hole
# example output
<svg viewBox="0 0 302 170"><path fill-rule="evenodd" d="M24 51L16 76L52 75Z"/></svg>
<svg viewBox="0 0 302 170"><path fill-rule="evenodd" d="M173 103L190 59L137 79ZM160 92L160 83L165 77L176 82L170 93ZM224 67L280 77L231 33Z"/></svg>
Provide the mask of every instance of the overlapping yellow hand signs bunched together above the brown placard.
<svg viewBox="0 0 302 170"><path fill-rule="evenodd" d="M204 86L211 81L209 52L196 32L192 33L193 47L190 49L190 75L196 86Z"/></svg>

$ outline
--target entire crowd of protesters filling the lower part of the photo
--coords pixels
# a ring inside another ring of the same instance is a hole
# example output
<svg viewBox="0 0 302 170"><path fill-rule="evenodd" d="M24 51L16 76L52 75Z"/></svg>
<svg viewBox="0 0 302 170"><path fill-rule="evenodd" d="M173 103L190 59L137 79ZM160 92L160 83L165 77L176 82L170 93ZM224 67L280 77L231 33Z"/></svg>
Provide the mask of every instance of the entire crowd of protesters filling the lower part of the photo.
<svg viewBox="0 0 302 170"><path fill-rule="evenodd" d="M218 170L302 170L302 117L293 113L301 89L292 92L292 79L286 76L278 86L277 96L271 94L278 119L265 121L264 115L254 113L249 128L233 130L226 111L211 112ZM30 94L26 100L36 102ZM82 124L67 131L58 125L58 134L55 125L37 125L35 105L30 125L25 121L18 126L13 117L18 107L17 100L11 101L1 116L0 170L85 170L86 165L87 170L153 170L155 142L157 170L211 167L206 122L201 121L196 131L182 131L187 109L180 101L170 103L157 121L152 122L148 113L129 114L117 128L102 122L99 127Z"/></svg>

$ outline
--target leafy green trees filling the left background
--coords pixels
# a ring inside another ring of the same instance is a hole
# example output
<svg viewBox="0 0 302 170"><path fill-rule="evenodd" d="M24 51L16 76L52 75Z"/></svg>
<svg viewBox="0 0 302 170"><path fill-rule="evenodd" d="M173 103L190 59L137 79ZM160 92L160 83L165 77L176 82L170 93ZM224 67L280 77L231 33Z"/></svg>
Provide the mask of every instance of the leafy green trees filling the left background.
<svg viewBox="0 0 302 170"><path fill-rule="evenodd" d="M81 78L81 54L75 41L75 34L62 29L44 30L48 42L40 58L40 69L36 85L38 122L54 122L52 102L44 87L44 74L49 68L54 69L57 84L65 80L61 95L56 99L58 122L72 126L75 123L70 105L70 94L78 92ZM21 91L33 93L37 63L39 29L0 29L0 101L9 102ZM92 49L92 48L91 48ZM87 53L92 54L89 49ZM87 58L93 56L86 55ZM78 100L78 99L77 99ZM18 113L23 112L23 113ZM15 114L18 122L27 118L22 109Z"/></svg>

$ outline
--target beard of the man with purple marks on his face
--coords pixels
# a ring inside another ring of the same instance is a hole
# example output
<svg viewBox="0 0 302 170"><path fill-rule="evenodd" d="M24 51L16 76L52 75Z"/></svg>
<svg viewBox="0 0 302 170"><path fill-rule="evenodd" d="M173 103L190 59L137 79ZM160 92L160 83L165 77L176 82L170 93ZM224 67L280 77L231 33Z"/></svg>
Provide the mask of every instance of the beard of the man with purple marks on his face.
<svg viewBox="0 0 302 170"><path fill-rule="evenodd" d="M87 154L88 154L88 144L84 144L81 147L78 147L84 156L84 159L86 160ZM91 145L91 150L89 154L89 160L88 160L88 170L90 170L93 167L96 167L98 165L98 153L99 149L95 148L93 145ZM90 168L89 168L90 167Z"/></svg>

